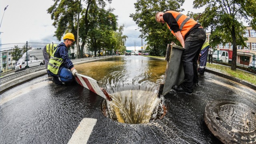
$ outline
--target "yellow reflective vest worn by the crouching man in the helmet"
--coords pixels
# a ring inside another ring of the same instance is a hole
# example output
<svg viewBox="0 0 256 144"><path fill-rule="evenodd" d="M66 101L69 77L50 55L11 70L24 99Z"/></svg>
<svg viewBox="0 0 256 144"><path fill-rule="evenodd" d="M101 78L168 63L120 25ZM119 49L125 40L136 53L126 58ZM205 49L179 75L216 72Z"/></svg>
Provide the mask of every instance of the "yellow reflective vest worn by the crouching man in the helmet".
<svg viewBox="0 0 256 144"><path fill-rule="evenodd" d="M60 65L63 63L62 58L54 57L54 54L55 54L57 49L58 49L58 47L54 50L52 56L50 57L50 60L48 62L48 67L47 67L47 69L50 70L50 72L52 72L53 74L56 74L56 75L59 72Z"/></svg>

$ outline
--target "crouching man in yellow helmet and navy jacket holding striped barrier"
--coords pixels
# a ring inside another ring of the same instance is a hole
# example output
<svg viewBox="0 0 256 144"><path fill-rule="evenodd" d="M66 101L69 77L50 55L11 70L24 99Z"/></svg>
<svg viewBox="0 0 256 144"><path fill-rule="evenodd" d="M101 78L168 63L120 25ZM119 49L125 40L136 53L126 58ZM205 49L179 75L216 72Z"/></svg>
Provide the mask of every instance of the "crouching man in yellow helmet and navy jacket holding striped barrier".
<svg viewBox="0 0 256 144"><path fill-rule="evenodd" d="M47 67L50 75L53 76L54 82L59 85L73 82L74 76L77 73L77 70L68 57L68 48L75 41L74 34L70 32L66 33L63 40L64 42L60 43L54 49Z"/></svg>

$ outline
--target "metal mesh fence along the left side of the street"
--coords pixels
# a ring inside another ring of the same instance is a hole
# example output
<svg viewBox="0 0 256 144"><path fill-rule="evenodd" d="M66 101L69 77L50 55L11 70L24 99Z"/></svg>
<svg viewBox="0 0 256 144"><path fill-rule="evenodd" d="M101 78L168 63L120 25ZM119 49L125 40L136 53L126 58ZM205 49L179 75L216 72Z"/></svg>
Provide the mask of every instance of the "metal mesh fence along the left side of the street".
<svg viewBox="0 0 256 144"><path fill-rule="evenodd" d="M43 48L49 43L13 43L0 44L0 75L18 72L28 67L44 65ZM76 59L76 50L69 49L70 59ZM84 58L91 57L94 52L84 48ZM115 53L107 53L115 55Z"/></svg>

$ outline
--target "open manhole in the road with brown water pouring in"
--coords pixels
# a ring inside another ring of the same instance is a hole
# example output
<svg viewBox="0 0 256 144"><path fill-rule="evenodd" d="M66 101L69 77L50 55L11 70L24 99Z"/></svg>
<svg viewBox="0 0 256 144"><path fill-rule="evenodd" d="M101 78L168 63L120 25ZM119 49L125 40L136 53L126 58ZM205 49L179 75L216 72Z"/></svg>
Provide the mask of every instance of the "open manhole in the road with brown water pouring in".
<svg viewBox="0 0 256 144"><path fill-rule="evenodd" d="M112 101L102 102L104 116L126 124L145 124L162 119L167 106L164 97L153 91L125 90L110 94Z"/></svg>

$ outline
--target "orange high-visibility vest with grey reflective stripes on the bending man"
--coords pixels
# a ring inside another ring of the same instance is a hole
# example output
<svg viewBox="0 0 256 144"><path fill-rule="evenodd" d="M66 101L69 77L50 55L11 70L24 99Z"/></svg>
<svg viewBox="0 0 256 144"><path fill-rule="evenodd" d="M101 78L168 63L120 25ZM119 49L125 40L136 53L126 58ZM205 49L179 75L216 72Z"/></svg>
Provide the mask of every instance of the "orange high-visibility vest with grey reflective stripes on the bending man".
<svg viewBox="0 0 256 144"><path fill-rule="evenodd" d="M189 18L188 16L186 16L180 12L168 10L165 13L171 13L172 16L175 18L176 22L179 25L179 29L180 29L180 32L181 32L183 38L185 38L185 35L188 33L188 31L197 24L197 22L195 20L193 20L192 18ZM168 24L167 24L167 26L168 26ZM168 26L168 28L170 29L170 26ZM174 32L171 29L170 29L170 31L174 35Z"/></svg>

